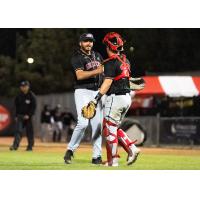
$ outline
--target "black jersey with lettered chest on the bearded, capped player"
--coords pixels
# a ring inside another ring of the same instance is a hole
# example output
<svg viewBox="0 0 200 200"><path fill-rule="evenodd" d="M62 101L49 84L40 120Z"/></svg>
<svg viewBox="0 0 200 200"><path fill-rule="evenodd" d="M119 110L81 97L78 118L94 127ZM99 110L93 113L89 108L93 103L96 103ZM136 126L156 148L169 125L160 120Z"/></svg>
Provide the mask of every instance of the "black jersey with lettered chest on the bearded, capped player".
<svg viewBox="0 0 200 200"><path fill-rule="evenodd" d="M102 56L95 51L91 52L91 55L87 55L83 53L81 50L75 52L71 59L71 64L73 66L74 72L76 70L84 70L84 71L92 71L97 69L100 66L101 62L103 61ZM84 88L84 89L91 89L91 90L98 90L98 88L102 84L102 75L97 75L95 77L91 77L84 80L77 80L75 74L75 89Z"/></svg>

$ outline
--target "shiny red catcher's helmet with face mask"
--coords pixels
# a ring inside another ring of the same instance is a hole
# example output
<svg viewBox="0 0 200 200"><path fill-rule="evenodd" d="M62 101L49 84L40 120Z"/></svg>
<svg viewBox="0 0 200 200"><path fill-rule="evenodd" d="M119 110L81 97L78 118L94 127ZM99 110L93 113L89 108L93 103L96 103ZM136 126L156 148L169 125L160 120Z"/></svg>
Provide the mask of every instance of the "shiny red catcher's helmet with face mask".
<svg viewBox="0 0 200 200"><path fill-rule="evenodd" d="M118 33L107 33L103 39L103 43L108 46L112 51L123 51L124 41Z"/></svg>

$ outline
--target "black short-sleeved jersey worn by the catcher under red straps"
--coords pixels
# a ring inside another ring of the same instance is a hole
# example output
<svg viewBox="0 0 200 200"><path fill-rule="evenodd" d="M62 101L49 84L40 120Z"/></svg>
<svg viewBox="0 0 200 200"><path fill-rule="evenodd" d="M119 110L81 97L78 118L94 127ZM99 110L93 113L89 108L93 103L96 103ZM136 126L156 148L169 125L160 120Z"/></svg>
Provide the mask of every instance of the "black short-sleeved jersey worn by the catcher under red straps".
<svg viewBox="0 0 200 200"><path fill-rule="evenodd" d="M129 65L130 70L130 62L128 59L125 61L126 64ZM130 92L130 83L129 77L117 78L120 77L123 72L122 62L120 62L117 58L108 60L104 64L104 76L105 78L113 79L112 85L107 95L110 94L126 94Z"/></svg>

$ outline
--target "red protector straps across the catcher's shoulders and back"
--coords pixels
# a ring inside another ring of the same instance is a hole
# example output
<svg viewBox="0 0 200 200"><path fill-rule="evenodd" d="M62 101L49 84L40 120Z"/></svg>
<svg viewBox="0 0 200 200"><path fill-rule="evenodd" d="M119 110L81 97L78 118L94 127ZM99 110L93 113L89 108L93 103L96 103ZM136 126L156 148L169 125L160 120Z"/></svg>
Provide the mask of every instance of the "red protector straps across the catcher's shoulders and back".
<svg viewBox="0 0 200 200"><path fill-rule="evenodd" d="M126 63L126 56L122 54L122 58L120 58L119 55L112 55L108 60L118 59L119 62L121 62L120 69L122 70L122 73L114 78L115 81L122 79L122 78L130 78L130 65Z"/></svg>

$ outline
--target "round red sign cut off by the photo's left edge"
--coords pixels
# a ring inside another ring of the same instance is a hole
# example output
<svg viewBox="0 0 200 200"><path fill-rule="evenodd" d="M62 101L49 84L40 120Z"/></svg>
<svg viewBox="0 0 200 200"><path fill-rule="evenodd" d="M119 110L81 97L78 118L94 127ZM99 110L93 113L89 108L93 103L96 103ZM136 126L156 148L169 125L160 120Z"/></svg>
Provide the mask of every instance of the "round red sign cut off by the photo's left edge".
<svg viewBox="0 0 200 200"><path fill-rule="evenodd" d="M11 117L10 112L0 105L0 131L4 130L10 125Z"/></svg>

